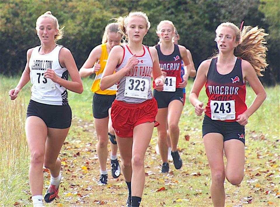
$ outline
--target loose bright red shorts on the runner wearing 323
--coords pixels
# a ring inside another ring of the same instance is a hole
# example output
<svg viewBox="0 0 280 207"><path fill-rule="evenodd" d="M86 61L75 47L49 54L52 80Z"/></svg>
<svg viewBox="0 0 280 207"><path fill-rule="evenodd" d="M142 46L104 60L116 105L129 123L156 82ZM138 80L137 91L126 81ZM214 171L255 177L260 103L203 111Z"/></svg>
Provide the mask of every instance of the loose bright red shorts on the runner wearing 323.
<svg viewBox="0 0 280 207"><path fill-rule="evenodd" d="M125 103L114 100L112 103L112 127L119 137L133 137L133 129L145 122L155 122L157 103L154 98L142 103Z"/></svg>

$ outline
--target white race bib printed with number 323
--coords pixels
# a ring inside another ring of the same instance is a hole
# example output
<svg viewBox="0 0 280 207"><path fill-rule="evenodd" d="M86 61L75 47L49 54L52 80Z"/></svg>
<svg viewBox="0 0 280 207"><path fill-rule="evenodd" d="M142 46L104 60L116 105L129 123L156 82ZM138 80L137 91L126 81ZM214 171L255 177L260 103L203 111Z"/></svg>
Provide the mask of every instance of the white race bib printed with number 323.
<svg viewBox="0 0 280 207"><path fill-rule="evenodd" d="M124 88L125 97L147 99L149 90L149 80L144 78L126 77Z"/></svg>

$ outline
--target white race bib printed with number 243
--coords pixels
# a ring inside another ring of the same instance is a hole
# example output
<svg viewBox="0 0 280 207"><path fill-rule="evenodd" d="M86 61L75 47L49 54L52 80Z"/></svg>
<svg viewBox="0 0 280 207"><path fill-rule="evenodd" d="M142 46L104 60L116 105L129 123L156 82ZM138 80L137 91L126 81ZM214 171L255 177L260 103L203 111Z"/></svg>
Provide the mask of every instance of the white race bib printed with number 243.
<svg viewBox="0 0 280 207"><path fill-rule="evenodd" d="M210 101L212 120L234 120L235 119L235 101Z"/></svg>

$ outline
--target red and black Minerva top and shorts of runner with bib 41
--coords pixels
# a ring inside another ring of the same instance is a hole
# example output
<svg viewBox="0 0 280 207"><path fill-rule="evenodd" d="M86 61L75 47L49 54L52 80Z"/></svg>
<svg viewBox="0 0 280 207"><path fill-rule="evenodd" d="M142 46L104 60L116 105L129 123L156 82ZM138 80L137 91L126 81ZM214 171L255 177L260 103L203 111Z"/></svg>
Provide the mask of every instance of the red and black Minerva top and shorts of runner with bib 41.
<svg viewBox="0 0 280 207"><path fill-rule="evenodd" d="M178 45L174 44L174 51L170 55L162 54L160 45L156 45L156 50L159 55L161 70L166 72L164 90L160 92L156 90L153 91L154 98L158 103L158 108L167 108L168 104L173 100L179 100L183 103L183 89L179 87L179 83L183 82L181 76L182 56ZM156 88L155 82L153 82L153 87L154 89Z"/></svg>

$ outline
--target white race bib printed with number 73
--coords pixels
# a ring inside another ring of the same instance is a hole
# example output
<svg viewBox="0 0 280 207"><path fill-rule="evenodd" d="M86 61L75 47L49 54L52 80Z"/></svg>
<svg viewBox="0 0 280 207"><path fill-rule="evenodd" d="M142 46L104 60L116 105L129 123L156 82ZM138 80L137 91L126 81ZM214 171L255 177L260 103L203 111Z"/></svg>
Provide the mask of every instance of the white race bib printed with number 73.
<svg viewBox="0 0 280 207"><path fill-rule="evenodd" d="M45 78L41 70L32 71L33 88L36 90L55 90L55 84L50 78Z"/></svg>

